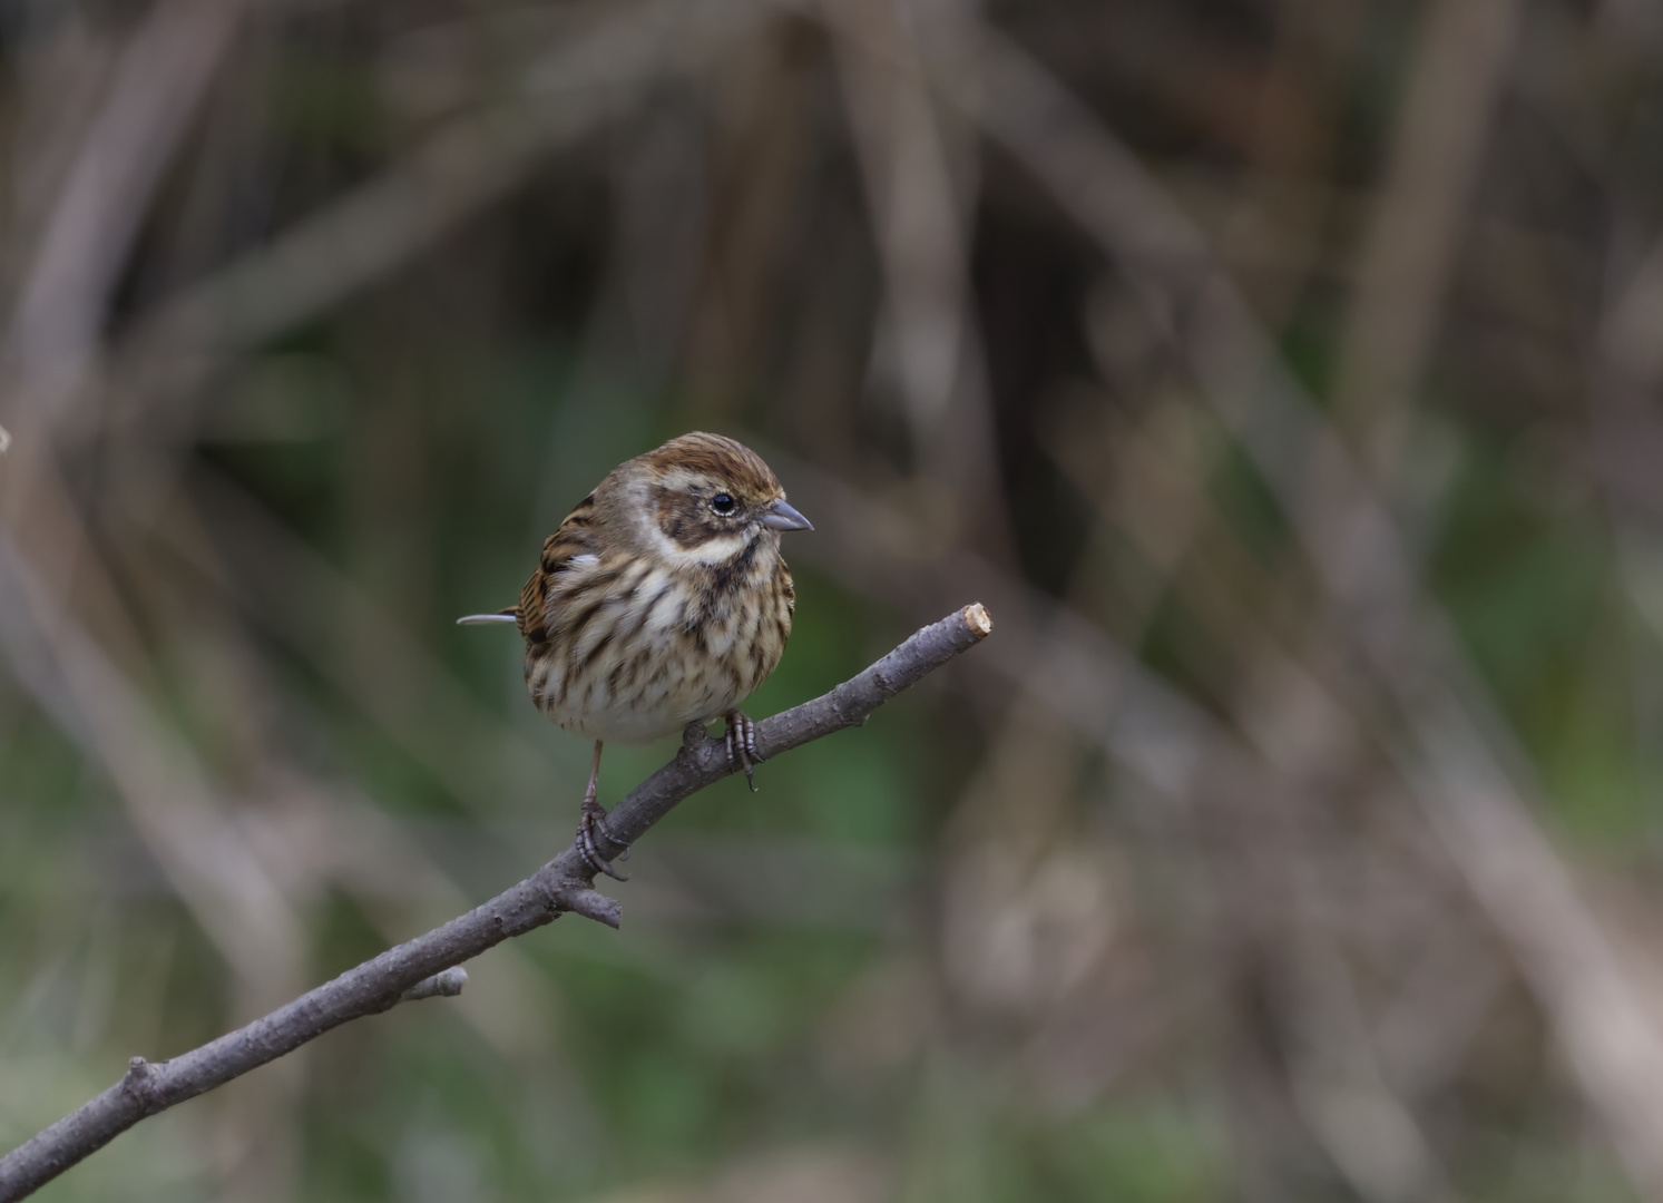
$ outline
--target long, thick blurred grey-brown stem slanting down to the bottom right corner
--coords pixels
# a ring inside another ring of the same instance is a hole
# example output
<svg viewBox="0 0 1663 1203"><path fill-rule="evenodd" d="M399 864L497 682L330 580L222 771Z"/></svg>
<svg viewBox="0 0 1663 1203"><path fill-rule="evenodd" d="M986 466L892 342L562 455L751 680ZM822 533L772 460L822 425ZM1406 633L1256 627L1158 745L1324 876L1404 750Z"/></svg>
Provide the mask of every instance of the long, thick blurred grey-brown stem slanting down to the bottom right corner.
<svg viewBox="0 0 1663 1203"><path fill-rule="evenodd" d="M1478 900L1512 940L1553 1015L1572 1067L1630 1171L1663 1193L1663 1033L1598 920L1570 885L1510 782L1518 757L1492 750L1500 724L1470 686L1455 639L1417 597L1414 571L1384 502L1364 484L1319 409L1269 351L1246 303L1209 263L1204 240L1162 201L1131 156L1011 48L984 43L978 111L1053 186L1151 298L1156 323L1196 313L1177 348L1202 396L1305 537L1317 579L1354 651L1379 674L1407 722L1397 747L1407 784L1434 819ZM986 62L991 58L991 65ZM1151 255L1151 248L1159 248ZM1161 303L1169 288L1182 290ZM1196 290L1196 291L1191 291ZM1167 328L1171 329L1171 328ZM1244 403L1252 398L1254 409ZM1307 471L1315 469L1312 498ZM1432 659L1429 664L1427 659ZM1482 717L1473 719L1468 707ZM1510 764L1508 764L1510 762ZM1527 897L1528 895L1528 897Z"/></svg>

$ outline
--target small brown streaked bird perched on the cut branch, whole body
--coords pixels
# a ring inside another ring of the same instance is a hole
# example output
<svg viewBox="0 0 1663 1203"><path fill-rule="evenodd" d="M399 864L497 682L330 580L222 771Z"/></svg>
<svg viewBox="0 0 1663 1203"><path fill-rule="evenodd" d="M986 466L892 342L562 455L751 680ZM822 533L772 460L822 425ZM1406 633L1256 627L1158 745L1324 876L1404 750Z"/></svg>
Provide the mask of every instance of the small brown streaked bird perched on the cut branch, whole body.
<svg viewBox="0 0 1663 1203"><path fill-rule="evenodd" d="M577 829L595 872L627 880L595 842L599 830L622 844L597 800L605 744L649 744L722 717L728 764L755 792L762 757L738 704L778 667L792 634L797 591L780 536L812 529L762 456L693 431L607 473L544 541L517 606L457 619L519 627L532 702L595 742Z"/></svg>

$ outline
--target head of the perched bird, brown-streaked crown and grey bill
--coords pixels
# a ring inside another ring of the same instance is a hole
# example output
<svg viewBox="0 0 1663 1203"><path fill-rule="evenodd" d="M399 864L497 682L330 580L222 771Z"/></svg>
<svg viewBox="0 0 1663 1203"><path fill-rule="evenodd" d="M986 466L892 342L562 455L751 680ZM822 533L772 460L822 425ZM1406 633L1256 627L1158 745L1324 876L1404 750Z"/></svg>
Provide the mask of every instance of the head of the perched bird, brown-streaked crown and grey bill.
<svg viewBox="0 0 1663 1203"><path fill-rule="evenodd" d="M619 473L634 486L642 534L677 561L723 564L758 539L813 529L762 456L722 434L683 434Z"/></svg>

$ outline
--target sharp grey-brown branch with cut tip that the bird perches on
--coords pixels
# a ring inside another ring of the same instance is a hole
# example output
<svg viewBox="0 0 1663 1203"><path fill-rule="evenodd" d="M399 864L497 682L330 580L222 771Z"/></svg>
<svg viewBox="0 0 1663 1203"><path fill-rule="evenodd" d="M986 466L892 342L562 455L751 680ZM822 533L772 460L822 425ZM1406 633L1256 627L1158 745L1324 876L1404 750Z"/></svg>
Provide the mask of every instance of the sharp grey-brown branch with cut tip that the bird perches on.
<svg viewBox="0 0 1663 1203"><path fill-rule="evenodd" d="M946 616L830 694L758 722L757 752L772 759L835 730L861 725L875 709L991 631L993 619L980 602ZM690 724L675 759L612 809L607 829L634 844L679 802L732 772L722 740L710 739L700 724ZM624 850L622 844L600 844L609 857ZM248 1027L170 1062L150 1063L135 1057L116 1085L0 1158L0 1203L32 1195L146 1115L225 1085L329 1028L401 1002L459 993L467 978L456 968L461 962L550 923L564 910L617 927L620 907L594 889L594 877L595 870L574 842L482 907L387 948Z"/></svg>

